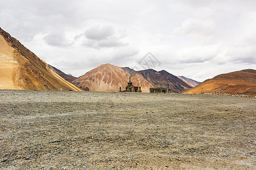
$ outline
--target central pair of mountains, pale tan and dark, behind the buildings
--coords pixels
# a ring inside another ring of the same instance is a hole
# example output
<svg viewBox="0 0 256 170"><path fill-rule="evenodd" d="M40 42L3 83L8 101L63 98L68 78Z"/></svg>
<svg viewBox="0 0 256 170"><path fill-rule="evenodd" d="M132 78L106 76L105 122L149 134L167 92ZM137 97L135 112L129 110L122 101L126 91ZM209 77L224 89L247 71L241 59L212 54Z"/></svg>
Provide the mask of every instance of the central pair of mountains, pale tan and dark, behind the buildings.
<svg viewBox="0 0 256 170"><path fill-rule="evenodd" d="M135 71L129 67L118 67L111 64L98 66L96 69L73 80L73 84L85 91L119 91L127 86L131 77L134 86L141 86L142 92L149 92L151 87L169 88L172 92L181 92L191 88L189 84L165 70L153 69Z"/></svg>

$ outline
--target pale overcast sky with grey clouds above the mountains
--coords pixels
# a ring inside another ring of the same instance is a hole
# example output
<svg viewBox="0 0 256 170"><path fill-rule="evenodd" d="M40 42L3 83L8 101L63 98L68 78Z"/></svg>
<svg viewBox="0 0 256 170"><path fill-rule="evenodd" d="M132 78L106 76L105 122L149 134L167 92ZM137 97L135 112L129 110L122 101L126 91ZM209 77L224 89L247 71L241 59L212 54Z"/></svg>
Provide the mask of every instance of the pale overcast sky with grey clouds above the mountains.
<svg viewBox="0 0 256 170"><path fill-rule="evenodd" d="M199 81L256 69L255 0L0 2L0 27L74 76L103 63Z"/></svg>

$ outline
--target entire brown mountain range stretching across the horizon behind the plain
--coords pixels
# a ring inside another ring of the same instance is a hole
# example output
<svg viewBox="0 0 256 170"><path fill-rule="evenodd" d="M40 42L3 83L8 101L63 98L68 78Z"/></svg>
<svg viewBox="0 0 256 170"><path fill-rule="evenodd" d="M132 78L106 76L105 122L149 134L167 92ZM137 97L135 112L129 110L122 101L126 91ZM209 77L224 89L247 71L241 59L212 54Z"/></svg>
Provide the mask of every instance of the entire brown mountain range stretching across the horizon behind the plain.
<svg viewBox="0 0 256 170"><path fill-rule="evenodd" d="M125 90L130 77L133 85L140 86L142 92L149 92L151 87L168 87L171 92L184 94L256 96L256 70L253 69L220 74L200 83L166 70L135 71L107 63L76 78L48 65L1 28L0 46L0 89L117 92L120 87Z"/></svg>

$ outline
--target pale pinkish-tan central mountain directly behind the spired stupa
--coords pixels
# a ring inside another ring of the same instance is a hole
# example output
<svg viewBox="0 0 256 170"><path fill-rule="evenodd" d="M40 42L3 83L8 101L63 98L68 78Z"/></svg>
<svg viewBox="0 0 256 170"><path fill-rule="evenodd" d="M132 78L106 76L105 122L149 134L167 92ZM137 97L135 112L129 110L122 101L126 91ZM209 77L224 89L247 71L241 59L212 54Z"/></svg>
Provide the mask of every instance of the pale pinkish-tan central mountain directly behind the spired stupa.
<svg viewBox="0 0 256 170"><path fill-rule="evenodd" d="M122 88L122 91L125 90L129 76L130 74L121 67L107 63L80 76L72 83L85 91L118 92L119 87ZM149 92L149 88L152 87L141 75L132 76L131 81L134 86L141 86L142 92Z"/></svg>

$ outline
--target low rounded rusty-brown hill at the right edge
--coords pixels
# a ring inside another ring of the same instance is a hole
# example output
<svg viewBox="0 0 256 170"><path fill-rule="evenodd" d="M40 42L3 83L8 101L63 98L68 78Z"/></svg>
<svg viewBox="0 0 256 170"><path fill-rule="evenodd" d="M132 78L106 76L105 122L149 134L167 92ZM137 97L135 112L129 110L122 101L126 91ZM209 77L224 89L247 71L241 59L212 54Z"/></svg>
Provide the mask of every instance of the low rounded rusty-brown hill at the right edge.
<svg viewBox="0 0 256 170"><path fill-rule="evenodd" d="M205 80L196 87L185 90L184 94L229 93L256 96L256 70L247 69L220 74Z"/></svg>

